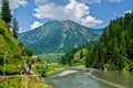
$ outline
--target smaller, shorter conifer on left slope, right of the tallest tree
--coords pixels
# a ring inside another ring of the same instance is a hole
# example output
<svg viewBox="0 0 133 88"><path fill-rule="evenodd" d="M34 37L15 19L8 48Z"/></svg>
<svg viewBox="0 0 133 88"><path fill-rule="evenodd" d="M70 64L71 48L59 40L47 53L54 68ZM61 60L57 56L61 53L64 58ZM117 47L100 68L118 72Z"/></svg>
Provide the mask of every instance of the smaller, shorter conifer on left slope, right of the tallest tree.
<svg viewBox="0 0 133 88"><path fill-rule="evenodd" d="M12 21L12 33L16 38L18 38L18 32L19 32L19 24L16 18L13 18Z"/></svg>

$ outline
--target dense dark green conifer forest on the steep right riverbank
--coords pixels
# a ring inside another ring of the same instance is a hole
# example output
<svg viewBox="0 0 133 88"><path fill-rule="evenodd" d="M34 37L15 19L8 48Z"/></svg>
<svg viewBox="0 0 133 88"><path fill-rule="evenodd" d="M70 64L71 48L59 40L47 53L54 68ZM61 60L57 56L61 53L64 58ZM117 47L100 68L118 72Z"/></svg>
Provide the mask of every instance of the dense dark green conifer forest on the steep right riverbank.
<svg viewBox="0 0 133 88"><path fill-rule="evenodd" d="M133 12L112 20L89 55L86 66L133 70Z"/></svg>

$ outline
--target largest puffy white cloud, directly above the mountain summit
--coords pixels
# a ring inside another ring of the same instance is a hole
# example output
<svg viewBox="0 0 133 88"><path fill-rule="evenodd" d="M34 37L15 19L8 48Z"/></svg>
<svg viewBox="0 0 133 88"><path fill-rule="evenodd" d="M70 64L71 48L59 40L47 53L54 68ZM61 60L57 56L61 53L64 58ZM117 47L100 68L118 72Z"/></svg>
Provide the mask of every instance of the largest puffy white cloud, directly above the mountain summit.
<svg viewBox="0 0 133 88"><path fill-rule="evenodd" d="M96 20L89 14L90 8L85 3L78 2L76 0L70 0L65 6L59 6L52 2L41 4L34 11L33 16L38 19L72 20L89 28L102 23L101 20Z"/></svg>

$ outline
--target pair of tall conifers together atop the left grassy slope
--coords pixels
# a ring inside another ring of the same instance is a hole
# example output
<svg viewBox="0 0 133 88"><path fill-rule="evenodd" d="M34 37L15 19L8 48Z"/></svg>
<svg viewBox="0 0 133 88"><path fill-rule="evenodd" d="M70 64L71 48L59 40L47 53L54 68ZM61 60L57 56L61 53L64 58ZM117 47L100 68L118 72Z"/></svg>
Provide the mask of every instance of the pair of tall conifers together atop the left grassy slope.
<svg viewBox="0 0 133 88"><path fill-rule="evenodd" d="M0 18L4 20L7 25L10 28L11 34L18 38L19 33L19 23L14 16L11 14L11 10L9 7L9 0L2 0L1 13Z"/></svg>

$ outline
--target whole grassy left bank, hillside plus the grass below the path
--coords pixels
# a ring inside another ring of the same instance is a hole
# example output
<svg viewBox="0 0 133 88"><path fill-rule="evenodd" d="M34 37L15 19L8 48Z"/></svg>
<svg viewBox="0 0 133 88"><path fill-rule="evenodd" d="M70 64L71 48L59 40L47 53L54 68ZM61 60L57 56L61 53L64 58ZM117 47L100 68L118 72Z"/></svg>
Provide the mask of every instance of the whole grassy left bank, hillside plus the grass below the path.
<svg viewBox="0 0 133 88"><path fill-rule="evenodd" d="M11 35L4 21L0 19L0 88L50 88L41 76L20 75L25 63L31 62L31 54ZM6 77L2 76L4 58ZM35 63L37 61L32 61L32 64ZM38 63L41 63L39 58Z"/></svg>

